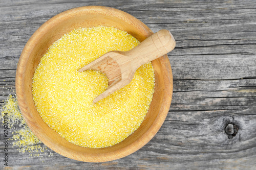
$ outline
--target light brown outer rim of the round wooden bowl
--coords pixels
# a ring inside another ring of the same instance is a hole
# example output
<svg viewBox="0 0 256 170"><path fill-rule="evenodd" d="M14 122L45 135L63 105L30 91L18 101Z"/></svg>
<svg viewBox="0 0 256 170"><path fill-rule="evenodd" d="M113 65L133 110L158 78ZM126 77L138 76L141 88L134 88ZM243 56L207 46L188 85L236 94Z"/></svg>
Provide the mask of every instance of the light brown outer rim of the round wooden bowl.
<svg viewBox="0 0 256 170"><path fill-rule="evenodd" d="M77 7L77 8L69 9L67 11L63 11L63 12L53 16L52 18L47 20L45 23L43 23L33 33L33 35L30 37L30 39L26 43L26 45L25 45L25 47L22 51L22 54L20 55L19 61L18 61L17 70L16 70L16 78L15 78L15 88L16 88L16 96L17 96L18 105L19 105L20 111L22 112L22 115L23 115L23 117L24 117L24 119L25 119L25 121L26 121L26 123L27 123L27 125L29 126L30 129L31 129L30 123L29 123L29 121L27 120L27 117L26 117L28 115L25 114L27 112L28 104L26 102L26 96L23 96L25 86L23 86L22 84L24 84L23 79L24 79L24 76L25 76L25 70L22 69L22 68L24 68L26 66L26 63L27 63L28 58L29 58L30 53L31 53L30 49L35 46L34 42L36 41L38 36L44 34L47 30L51 29L56 24L56 23L54 23L54 21L56 21L56 20L61 21L61 19L63 17L66 17L68 15L75 15L78 11L83 12L83 13L90 13L90 14L92 14L92 13L99 14L100 13L100 14L103 14L103 15L111 15L111 14L118 13L118 16L115 15L115 17L117 17L119 19L122 19L125 22L128 22L132 25L137 25L137 27L141 28L143 33L146 34L147 36L150 36L151 34L153 34L153 32L142 21L135 18L131 14L128 14L124 11L121 11L121 10L118 10L118 9L115 9L115 8L104 7L104 6L83 6L83 7ZM111 15L111 16L113 17L113 15ZM52 147L48 146L48 144L46 144L47 147L49 147L53 151L59 153L60 155L66 156L66 157L71 158L71 159L75 159L75 160L79 160L79 161L86 161L86 162L112 161L112 160L116 160L116 159L125 157L127 155L130 155L130 154L136 152L137 150L139 150L140 148L142 148L148 141L150 141L156 135L156 133L161 128L161 126L164 123L164 120L165 120L165 118L168 114L169 106L172 102L172 94L173 94L172 68L170 67L170 62L169 62L169 59L168 59L167 55L164 55L163 57L160 57L158 60L160 61L160 63L162 65L165 66L166 72L168 72L168 74L163 75L164 80L166 80L166 82L164 83L165 93L164 93L164 96L163 96L163 104L161 105L160 111L159 111L162 114L161 114L161 116L158 115L156 117L152 126L146 131L145 134L143 134L143 138L140 139L139 142L136 142L134 144L130 144L128 149L126 147L126 150L122 150L122 152L120 152L120 153L115 153L114 157L111 156L111 155L104 154L104 155L101 156L100 161L92 160L90 158L78 159L77 157L73 157L68 153L56 150L55 148L52 148ZM37 134L37 132L35 132L33 130L32 130L32 132L43 143L45 143L45 139L42 138L39 134Z"/></svg>

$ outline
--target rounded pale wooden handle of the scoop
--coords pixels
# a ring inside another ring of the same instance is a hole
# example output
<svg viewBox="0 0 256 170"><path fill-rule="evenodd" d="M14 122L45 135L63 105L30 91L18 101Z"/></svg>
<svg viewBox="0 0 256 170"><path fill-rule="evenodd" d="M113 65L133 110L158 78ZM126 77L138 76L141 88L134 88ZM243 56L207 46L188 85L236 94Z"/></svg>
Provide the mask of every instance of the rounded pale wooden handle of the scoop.
<svg viewBox="0 0 256 170"><path fill-rule="evenodd" d="M169 53L175 48L175 45L176 41L173 35L168 30L160 30L147 37L132 50L125 52L125 56L131 57L133 65L138 68Z"/></svg>

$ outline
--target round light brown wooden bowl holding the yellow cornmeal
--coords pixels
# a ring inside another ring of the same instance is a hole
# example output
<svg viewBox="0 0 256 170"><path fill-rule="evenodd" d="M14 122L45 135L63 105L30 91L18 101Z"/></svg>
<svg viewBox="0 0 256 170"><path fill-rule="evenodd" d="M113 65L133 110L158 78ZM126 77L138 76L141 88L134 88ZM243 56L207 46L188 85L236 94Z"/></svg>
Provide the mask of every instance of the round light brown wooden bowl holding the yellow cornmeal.
<svg viewBox="0 0 256 170"><path fill-rule="evenodd" d="M132 154L158 132L172 101L173 76L167 55L152 62L155 69L155 93L150 109L140 127L120 143L112 147L91 149L68 142L53 131L37 112L32 96L32 78L40 58L54 41L79 27L93 26L113 26L133 35L139 41L153 34L132 15L109 7L87 6L62 12L36 30L24 47L16 71L16 95L29 128L49 148L71 159L105 162Z"/></svg>

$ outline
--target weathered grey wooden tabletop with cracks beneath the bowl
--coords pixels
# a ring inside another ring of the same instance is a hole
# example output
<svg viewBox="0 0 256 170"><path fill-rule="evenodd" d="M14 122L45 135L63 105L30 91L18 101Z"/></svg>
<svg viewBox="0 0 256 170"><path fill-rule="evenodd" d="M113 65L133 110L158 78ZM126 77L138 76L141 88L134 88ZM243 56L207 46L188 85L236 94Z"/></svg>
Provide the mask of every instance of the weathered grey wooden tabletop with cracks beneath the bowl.
<svg viewBox="0 0 256 170"><path fill-rule="evenodd" d="M174 94L166 120L143 148L125 158L86 163L57 153L29 158L9 145L14 169L255 169L256 2L0 1L0 101L15 93L15 71L30 36L54 15L80 6L120 9L176 39L168 55ZM227 135L227 124L236 135ZM0 167L4 167L1 126Z"/></svg>

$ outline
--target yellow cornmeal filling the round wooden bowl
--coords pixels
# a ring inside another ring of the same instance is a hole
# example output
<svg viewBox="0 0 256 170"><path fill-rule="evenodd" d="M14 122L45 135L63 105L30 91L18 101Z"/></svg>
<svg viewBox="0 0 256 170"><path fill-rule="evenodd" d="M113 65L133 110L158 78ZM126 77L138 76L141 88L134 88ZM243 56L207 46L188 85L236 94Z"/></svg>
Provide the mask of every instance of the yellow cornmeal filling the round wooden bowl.
<svg viewBox="0 0 256 170"><path fill-rule="evenodd" d="M33 77L33 99L42 119L82 147L110 147L131 135L153 98L152 64L142 65L129 85L96 104L108 79L100 71L77 70L109 51L128 51L138 44L126 32L102 26L76 29L54 42Z"/></svg>

